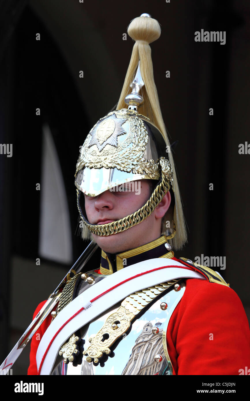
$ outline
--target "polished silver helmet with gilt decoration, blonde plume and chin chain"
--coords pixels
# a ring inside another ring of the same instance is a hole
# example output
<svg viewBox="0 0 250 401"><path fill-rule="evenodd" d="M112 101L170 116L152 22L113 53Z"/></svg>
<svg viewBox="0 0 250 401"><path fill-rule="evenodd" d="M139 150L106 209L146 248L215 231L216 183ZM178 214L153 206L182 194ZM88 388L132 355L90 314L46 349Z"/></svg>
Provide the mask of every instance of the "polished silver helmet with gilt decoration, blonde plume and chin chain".
<svg viewBox="0 0 250 401"><path fill-rule="evenodd" d="M136 42L117 109L102 117L81 147L75 172L77 208L83 222L82 237L114 235L146 219L171 191L171 205L162 233L175 249L187 239L171 146L154 84L149 43L159 38L159 23L148 14L132 20L128 34ZM131 91L132 88L132 91ZM131 92L130 92L131 91ZM146 115L145 115L146 114ZM97 196L137 180L154 180L154 190L140 209L118 221L92 225L81 206L81 193Z"/></svg>

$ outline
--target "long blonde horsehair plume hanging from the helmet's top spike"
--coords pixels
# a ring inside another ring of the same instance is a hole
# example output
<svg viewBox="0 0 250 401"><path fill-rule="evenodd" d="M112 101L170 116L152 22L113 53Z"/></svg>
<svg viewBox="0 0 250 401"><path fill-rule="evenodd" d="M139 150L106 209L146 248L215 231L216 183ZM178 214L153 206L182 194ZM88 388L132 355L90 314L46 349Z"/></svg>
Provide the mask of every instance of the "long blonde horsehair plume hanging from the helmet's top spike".
<svg viewBox="0 0 250 401"><path fill-rule="evenodd" d="M176 235L173 239L169 239L169 243L173 246L174 249L181 249L185 242L187 242L187 231L181 204L179 186L177 182L177 175L175 172L174 160L171 153L169 139L167 137L167 130L163 122L157 88L154 83L151 48L149 46L149 43L156 41L160 37L161 27L157 20L150 17L141 16L132 20L132 22L128 26L128 34L135 41L135 44L132 50L130 63L116 110L127 107L126 103L124 102L124 98L131 91L130 84L132 83L138 67L138 62L140 60L140 72L145 86L142 89L142 96L144 100L143 105L142 107L139 107L138 112L146 115L150 119L150 121L155 126L157 126L157 128L163 135L166 145L169 146L169 161L174 172L174 221L176 227ZM164 225L165 221L166 216L164 219Z"/></svg>

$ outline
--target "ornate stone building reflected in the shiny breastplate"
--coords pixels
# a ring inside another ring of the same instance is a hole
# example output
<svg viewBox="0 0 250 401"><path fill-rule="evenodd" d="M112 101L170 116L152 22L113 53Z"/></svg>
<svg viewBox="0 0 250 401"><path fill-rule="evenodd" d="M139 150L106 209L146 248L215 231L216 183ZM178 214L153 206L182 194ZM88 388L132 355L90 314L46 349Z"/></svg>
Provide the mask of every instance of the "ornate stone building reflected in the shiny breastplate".
<svg viewBox="0 0 250 401"><path fill-rule="evenodd" d="M157 326L160 326L158 323ZM122 375L158 375L161 364L154 360L157 354L164 357L163 329L157 334L152 333L152 323L147 322L140 335L136 338L131 355ZM166 367L166 364L164 364ZM162 370L162 369L161 369Z"/></svg>

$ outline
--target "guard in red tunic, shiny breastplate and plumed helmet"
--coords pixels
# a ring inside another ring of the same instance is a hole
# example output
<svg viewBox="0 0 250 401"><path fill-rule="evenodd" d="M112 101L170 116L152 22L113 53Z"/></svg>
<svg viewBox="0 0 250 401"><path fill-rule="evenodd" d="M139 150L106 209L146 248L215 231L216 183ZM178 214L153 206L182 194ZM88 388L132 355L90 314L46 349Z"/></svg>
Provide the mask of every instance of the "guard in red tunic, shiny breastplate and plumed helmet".
<svg viewBox="0 0 250 401"><path fill-rule="evenodd" d="M33 336L28 374L238 375L249 363L240 299L172 250L187 235L153 78L149 43L161 29L142 14L128 34L117 109L89 132L75 173L82 238L101 247L100 268L69 277Z"/></svg>

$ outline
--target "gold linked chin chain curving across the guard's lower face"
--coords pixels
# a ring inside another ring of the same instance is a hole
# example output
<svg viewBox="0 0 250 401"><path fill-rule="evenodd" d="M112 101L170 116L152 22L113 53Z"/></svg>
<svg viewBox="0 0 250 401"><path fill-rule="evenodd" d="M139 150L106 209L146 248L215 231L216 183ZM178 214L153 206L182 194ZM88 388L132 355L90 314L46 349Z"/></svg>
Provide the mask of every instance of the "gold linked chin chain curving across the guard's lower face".
<svg viewBox="0 0 250 401"><path fill-rule="evenodd" d="M128 230L130 227L133 227L136 224L141 223L148 216L152 214L154 209L162 201L163 196L165 196L165 194L169 191L170 189L169 182L173 181L173 170L172 168L171 170L169 170L170 164L168 160L161 157L159 163L161 166L162 180L161 183L157 185L157 187L155 188L154 192L152 193L148 201L145 203L145 205L142 206L140 209L138 209L138 211L132 213L131 215L123 217L123 219L113 221L112 223L101 224L101 225L90 224L89 221L87 221L87 219L83 216L83 213L79 205L79 195L80 195L79 190L78 189L76 190L77 209L79 211L81 220L86 225L86 227L91 231L92 234L106 236L120 233L122 231Z"/></svg>

